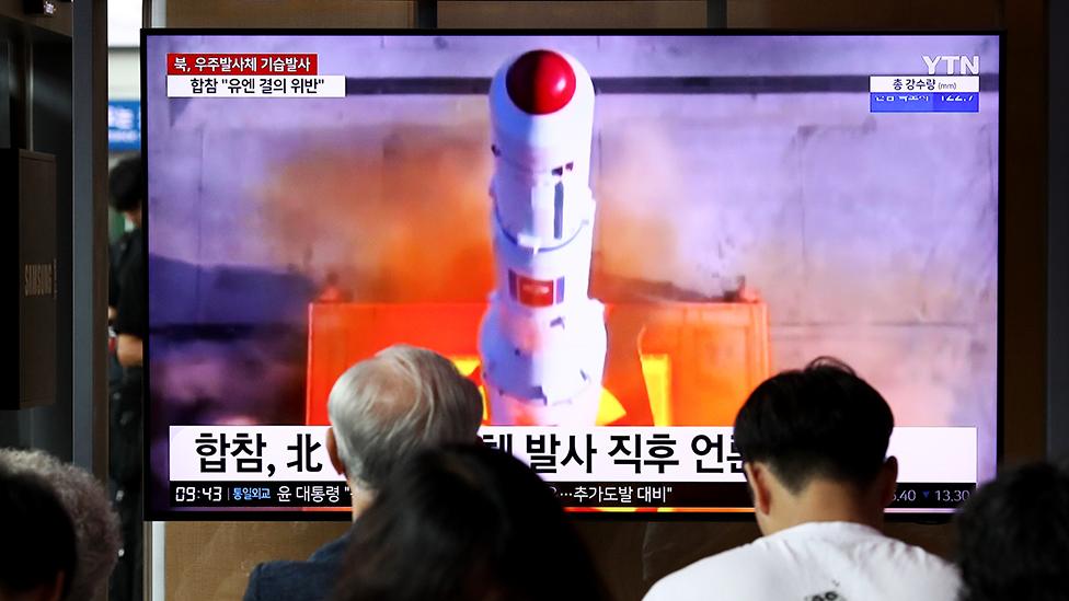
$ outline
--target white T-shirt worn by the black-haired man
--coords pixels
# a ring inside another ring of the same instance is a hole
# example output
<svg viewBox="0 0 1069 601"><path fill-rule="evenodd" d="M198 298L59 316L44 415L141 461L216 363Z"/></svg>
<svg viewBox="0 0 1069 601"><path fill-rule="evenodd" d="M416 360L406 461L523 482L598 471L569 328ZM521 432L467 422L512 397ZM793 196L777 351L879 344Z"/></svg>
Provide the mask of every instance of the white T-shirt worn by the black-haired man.
<svg viewBox="0 0 1069 601"><path fill-rule="evenodd" d="M850 522L809 522L706 557L645 601L955 601L951 564Z"/></svg>

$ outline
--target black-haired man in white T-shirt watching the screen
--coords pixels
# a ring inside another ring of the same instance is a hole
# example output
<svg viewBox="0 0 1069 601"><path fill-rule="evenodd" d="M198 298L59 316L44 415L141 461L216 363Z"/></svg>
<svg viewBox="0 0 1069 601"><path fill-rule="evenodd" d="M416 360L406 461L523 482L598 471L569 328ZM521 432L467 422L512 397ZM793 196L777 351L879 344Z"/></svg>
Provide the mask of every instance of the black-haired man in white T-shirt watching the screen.
<svg viewBox="0 0 1069 601"><path fill-rule="evenodd" d="M953 566L884 536L898 462L894 416L841 361L819 358L755 390L735 418L757 541L664 578L647 601L954 601Z"/></svg>

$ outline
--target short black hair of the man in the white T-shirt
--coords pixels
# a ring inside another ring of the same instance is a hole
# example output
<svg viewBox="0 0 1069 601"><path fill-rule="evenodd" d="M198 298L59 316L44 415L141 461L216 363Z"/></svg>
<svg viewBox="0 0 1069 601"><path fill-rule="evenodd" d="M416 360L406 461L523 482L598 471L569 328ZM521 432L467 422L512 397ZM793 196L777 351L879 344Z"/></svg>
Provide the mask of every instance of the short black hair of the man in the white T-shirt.
<svg viewBox="0 0 1069 601"><path fill-rule="evenodd" d="M827 357L759 385L735 418L747 462L767 463L792 493L815 477L867 486L880 474L895 426L883 396Z"/></svg>

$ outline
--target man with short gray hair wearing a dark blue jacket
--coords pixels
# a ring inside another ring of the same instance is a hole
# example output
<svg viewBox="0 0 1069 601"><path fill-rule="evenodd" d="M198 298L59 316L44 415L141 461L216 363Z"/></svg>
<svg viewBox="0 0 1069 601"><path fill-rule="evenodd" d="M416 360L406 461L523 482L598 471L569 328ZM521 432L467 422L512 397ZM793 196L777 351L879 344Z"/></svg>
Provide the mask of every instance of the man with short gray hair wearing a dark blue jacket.
<svg viewBox="0 0 1069 601"><path fill-rule="evenodd" d="M398 345L345 371L331 390L327 411L326 448L334 469L348 481L356 521L390 472L413 453L475 441L483 403L475 384L451 361ZM327 543L307 562L256 566L245 601L325 599L347 541L343 535Z"/></svg>

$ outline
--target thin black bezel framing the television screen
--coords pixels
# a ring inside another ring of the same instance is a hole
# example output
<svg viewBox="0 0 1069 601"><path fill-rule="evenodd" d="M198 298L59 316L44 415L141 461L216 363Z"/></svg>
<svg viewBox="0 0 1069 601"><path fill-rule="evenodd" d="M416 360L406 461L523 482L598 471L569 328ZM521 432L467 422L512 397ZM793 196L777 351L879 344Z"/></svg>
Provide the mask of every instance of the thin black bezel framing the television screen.
<svg viewBox="0 0 1069 601"><path fill-rule="evenodd" d="M1004 109L1004 91L1005 91L1005 30L923 30L923 31L904 31L904 30L777 30L777 28L746 28L746 30L701 30L701 28L610 28L610 30L597 30L597 28L577 28L577 30L544 30L544 28L531 28L531 30L513 30L513 28L449 28L449 30L426 30L426 28L294 28L294 27L268 27L268 28L233 28L233 27L146 27L141 30L140 33L140 46L139 46L139 60L140 60L140 104L141 104L141 115L148 115L146 112L146 99L148 91L148 79L147 79L147 63L146 63L146 42L149 37L160 37L169 35L200 35L200 36L211 36L211 37L222 37L222 36L298 36L298 35L314 35L314 36L412 36L412 37L436 37L436 36L515 36L515 37L527 37L527 36L636 36L636 37L652 37L652 36L688 36L688 37L760 37L760 36L773 36L773 37L837 37L837 36L885 36L885 37L936 37L936 36L991 36L998 39L999 44L999 72L998 72L998 94L999 94L999 108L998 108L998 185L997 185L997 205L998 205L998 241L997 241L997 325L996 325L996 465L1000 467L1003 463L1003 351L1004 351L1004 319L1003 319L1003 282L1004 282L1004 234L1005 234L1005 215L1003 211L1003 200L1004 200L1004 127L1005 127L1005 109ZM142 204L142 226L141 235L145 244L146 251L149 249L149 223L148 219L149 203L148 203L148 174L149 174L149 153L148 153L148 140L149 140L149 122L142 117L141 120L141 169L142 169L142 195L145 199ZM148 254L146 253L146 258ZM151 323L151 305L148 302L149 299L149 268L148 261L145 262L145 299L146 299L146 310L147 320ZM143 519L147 522L156 521L220 521L220 522L348 522L352 517L347 511L295 511L295 510L272 510L272 509L235 509L230 511L220 510L157 510L152 507L151 499L149 499L150 487L147 486L149 481L149 470L151 467L151 439L150 439L150 424L151 424L151 412L152 403L149 400L149 391L151 390L150 379L151 369L149 368L151 361L151 335L146 336L143 340L143 351L145 351L145 365L147 366L143 371L142 378L142 400L143 400L143 412L142 412L142 477L141 477L141 505L143 511ZM170 482L170 477L168 478ZM566 515L570 519L576 521L595 521L595 522L749 522L756 521L754 511L737 511L736 508L724 508L723 511L567 511ZM884 519L887 522L893 523L922 523L922 524L941 524L949 523L953 520L956 511L910 511L910 512L886 512L884 513Z"/></svg>

